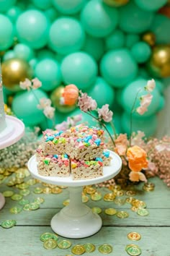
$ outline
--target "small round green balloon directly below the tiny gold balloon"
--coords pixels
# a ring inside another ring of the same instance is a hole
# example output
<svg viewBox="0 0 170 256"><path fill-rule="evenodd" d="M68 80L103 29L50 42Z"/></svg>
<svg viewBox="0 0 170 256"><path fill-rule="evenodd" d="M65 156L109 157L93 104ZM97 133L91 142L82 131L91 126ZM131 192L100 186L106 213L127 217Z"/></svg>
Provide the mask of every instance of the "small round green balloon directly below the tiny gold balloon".
<svg viewBox="0 0 170 256"><path fill-rule="evenodd" d="M131 48L131 54L138 63L145 63L151 56L151 47L148 43L138 42Z"/></svg>

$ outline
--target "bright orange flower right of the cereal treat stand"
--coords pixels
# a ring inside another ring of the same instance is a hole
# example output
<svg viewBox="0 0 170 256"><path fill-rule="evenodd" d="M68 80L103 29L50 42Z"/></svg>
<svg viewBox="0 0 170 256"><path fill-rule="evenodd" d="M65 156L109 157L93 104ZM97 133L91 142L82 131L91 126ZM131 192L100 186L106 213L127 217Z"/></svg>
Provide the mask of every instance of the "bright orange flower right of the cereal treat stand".
<svg viewBox="0 0 170 256"><path fill-rule="evenodd" d="M146 151L137 145L128 148L127 157L130 170L141 171L143 168L147 168L148 161L146 156Z"/></svg>

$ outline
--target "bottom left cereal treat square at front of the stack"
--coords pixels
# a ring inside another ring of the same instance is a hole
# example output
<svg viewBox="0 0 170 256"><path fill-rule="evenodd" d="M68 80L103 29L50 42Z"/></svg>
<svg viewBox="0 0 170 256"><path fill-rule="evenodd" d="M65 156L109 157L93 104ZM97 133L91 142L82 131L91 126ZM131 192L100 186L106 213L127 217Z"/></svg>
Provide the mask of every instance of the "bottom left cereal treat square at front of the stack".
<svg viewBox="0 0 170 256"><path fill-rule="evenodd" d="M68 155L44 155L41 148L36 150L37 169L42 176L60 176L70 175Z"/></svg>

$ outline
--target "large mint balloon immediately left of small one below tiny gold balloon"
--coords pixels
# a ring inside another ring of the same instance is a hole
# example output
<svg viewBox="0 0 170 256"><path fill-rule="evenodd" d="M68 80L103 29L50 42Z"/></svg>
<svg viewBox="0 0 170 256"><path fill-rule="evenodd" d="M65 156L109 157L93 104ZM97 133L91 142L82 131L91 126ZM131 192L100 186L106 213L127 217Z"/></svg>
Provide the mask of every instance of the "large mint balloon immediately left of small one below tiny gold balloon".
<svg viewBox="0 0 170 256"><path fill-rule="evenodd" d="M128 49L108 51L100 62L102 77L113 87L122 88L133 81L138 73L138 65Z"/></svg>

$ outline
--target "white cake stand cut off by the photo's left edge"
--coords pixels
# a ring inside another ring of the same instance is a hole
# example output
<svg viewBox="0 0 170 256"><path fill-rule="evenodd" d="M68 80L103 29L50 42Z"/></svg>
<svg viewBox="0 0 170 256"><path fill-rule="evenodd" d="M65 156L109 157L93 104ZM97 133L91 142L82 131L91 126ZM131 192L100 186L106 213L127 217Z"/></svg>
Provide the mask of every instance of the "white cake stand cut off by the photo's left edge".
<svg viewBox="0 0 170 256"><path fill-rule="evenodd" d="M14 116L6 115L6 128L0 133L0 150L13 145L24 135L24 124ZM0 193L0 209L5 203L4 195Z"/></svg>

